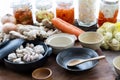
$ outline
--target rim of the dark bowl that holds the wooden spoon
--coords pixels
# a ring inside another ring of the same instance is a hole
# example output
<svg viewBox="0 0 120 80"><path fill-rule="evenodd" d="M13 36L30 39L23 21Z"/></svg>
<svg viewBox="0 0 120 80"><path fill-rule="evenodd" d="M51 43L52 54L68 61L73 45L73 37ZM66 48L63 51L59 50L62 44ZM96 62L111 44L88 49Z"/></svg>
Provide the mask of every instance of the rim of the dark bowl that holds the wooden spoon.
<svg viewBox="0 0 120 80"><path fill-rule="evenodd" d="M59 66L61 66L63 69L66 69L66 70L68 70L68 71L86 71L86 70L92 69L93 67L95 67L95 66L98 64L98 61L97 61L95 64L93 64L92 67L89 67L88 69L85 69L85 70L66 68L64 65L61 65L61 64L59 63L58 58L59 58L59 56L60 56L61 54L63 54L64 51L71 50L71 49L87 49L87 50L92 51L96 56L99 56L99 55L97 54L97 52L95 52L94 50L92 50L92 49L90 49L90 48L68 48L68 49L65 49L65 50L59 52L58 55L57 55L57 57L56 57L56 62L57 62L57 64L58 64Z"/></svg>

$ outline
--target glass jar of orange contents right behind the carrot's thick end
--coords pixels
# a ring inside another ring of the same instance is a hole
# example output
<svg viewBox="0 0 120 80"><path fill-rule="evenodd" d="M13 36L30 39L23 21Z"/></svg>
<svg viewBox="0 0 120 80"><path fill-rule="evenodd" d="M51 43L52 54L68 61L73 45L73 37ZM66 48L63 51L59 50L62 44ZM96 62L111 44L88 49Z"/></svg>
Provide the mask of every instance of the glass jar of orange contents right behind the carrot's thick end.
<svg viewBox="0 0 120 80"><path fill-rule="evenodd" d="M57 0L56 17L71 24L74 23L73 0Z"/></svg>

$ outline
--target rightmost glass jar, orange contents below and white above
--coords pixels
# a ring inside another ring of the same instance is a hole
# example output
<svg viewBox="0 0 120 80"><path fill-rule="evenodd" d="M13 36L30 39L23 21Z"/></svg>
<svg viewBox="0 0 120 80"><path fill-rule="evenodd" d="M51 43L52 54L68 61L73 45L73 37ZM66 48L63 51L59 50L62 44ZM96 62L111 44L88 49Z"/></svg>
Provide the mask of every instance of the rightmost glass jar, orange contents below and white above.
<svg viewBox="0 0 120 80"><path fill-rule="evenodd" d="M118 0L101 0L98 25L101 26L104 22L115 23L118 15Z"/></svg>

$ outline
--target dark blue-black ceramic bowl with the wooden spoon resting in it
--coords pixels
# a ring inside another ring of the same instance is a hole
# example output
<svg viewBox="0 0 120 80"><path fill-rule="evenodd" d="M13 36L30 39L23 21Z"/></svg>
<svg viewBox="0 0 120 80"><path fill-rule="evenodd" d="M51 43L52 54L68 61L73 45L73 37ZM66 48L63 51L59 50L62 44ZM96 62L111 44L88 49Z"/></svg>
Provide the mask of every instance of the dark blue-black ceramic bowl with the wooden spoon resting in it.
<svg viewBox="0 0 120 80"><path fill-rule="evenodd" d="M56 61L59 66L66 70L85 71L93 68L98 63L98 60L88 61L72 67L67 66L67 64L70 60L73 59L88 59L97 56L98 54L94 50L89 48L68 48L58 53Z"/></svg>

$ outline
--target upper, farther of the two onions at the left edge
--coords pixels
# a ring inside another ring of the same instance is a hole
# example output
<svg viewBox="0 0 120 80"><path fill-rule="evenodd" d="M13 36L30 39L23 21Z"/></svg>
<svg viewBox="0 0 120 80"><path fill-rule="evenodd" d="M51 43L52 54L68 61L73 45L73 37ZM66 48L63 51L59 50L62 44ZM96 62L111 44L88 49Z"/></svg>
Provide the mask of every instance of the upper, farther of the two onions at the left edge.
<svg viewBox="0 0 120 80"><path fill-rule="evenodd" d="M16 24L16 18L11 14L6 14L1 18L1 22L2 24L8 23L8 22Z"/></svg>

